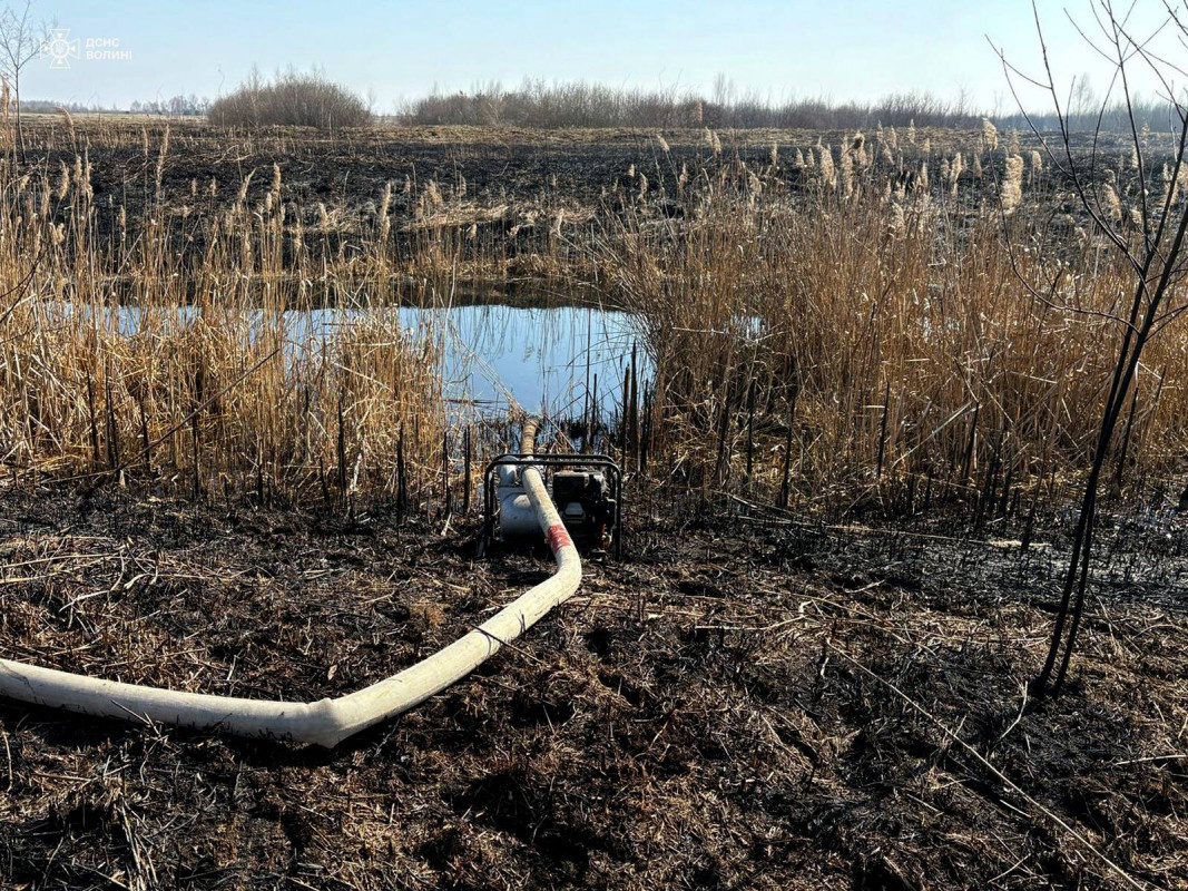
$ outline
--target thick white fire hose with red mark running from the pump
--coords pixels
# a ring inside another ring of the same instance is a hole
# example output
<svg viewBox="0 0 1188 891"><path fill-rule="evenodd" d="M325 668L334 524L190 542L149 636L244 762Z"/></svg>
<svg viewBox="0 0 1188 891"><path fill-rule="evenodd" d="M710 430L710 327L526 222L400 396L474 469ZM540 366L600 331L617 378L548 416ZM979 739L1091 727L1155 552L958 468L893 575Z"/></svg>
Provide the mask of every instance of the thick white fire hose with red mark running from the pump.
<svg viewBox="0 0 1188 891"><path fill-rule="evenodd" d="M535 453L536 426L533 419L524 425L520 450L525 454ZM327 748L335 746L466 677L577 590L582 563L549 498L541 472L525 466L522 480L557 561L557 570L446 649L358 693L309 703L245 700L103 681L0 659L0 695L103 718L148 719L240 737L290 739Z"/></svg>

